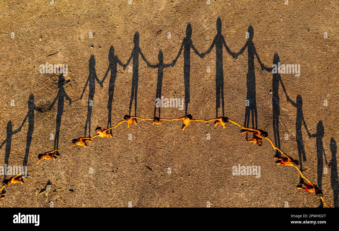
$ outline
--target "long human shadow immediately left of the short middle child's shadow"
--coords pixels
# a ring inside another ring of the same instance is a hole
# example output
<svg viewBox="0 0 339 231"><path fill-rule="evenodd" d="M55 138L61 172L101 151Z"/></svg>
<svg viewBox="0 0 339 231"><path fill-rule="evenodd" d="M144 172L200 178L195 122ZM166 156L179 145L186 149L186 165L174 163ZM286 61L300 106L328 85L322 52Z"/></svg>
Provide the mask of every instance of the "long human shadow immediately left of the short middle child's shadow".
<svg viewBox="0 0 339 231"><path fill-rule="evenodd" d="M132 75L132 89L131 89L131 100L129 101L129 115L131 115L132 111L132 103L134 100L134 115L137 115L137 96L138 96L138 84L139 84L139 55L141 58L148 63L144 54L142 53L139 47L139 33L135 32L134 38L134 48L132 50L131 56L129 57L125 66L129 64L131 59L133 58L133 75Z"/></svg>

